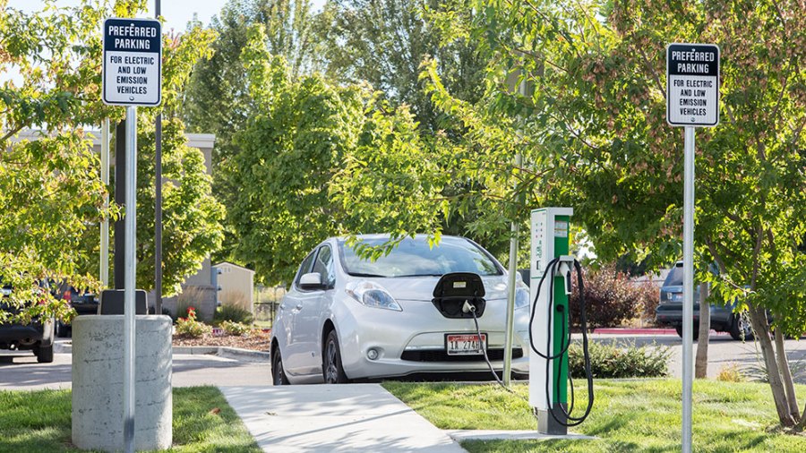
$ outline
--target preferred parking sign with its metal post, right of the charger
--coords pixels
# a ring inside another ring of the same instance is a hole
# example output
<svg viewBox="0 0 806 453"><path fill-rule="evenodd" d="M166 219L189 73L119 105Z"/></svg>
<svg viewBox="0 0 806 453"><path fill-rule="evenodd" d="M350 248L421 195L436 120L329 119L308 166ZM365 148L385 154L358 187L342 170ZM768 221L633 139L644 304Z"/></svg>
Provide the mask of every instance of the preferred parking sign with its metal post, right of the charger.
<svg viewBox="0 0 806 453"><path fill-rule="evenodd" d="M666 122L685 127L683 163L682 451L691 451L694 378L694 128L719 124L719 47L666 47Z"/></svg>

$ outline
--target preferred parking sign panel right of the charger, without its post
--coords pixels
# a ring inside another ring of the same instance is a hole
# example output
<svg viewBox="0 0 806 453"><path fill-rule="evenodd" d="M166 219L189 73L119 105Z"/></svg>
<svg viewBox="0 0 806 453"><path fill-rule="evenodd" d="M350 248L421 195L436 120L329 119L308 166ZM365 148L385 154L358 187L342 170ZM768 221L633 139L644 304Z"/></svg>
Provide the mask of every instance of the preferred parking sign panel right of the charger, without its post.
<svg viewBox="0 0 806 453"><path fill-rule="evenodd" d="M666 47L666 121L673 126L719 124L719 47Z"/></svg>

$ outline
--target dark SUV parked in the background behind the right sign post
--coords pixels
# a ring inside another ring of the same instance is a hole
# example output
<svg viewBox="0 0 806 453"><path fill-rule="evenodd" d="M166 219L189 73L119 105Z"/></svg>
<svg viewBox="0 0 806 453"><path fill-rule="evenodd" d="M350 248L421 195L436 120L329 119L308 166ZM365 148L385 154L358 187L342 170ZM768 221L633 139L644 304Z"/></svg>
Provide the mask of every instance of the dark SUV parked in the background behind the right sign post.
<svg viewBox="0 0 806 453"><path fill-rule="evenodd" d="M671 326L682 337L683 263L677 261L666 276L660 290L660 303L655 312L658 324ZM728 305L708 304L711 310L711 329L728 332L733 339L752 339L753 329L743 313L734 313L735 303ZM694 286L694 338L699 335L699 285Z"/></svg>

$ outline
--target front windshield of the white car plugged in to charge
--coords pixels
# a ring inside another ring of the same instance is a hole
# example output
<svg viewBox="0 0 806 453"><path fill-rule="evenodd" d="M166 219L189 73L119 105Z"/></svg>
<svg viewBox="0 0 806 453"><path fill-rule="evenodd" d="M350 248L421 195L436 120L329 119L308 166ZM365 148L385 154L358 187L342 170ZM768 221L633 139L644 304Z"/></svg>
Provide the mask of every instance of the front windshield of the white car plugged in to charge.
<svg viewBox="0 0 806 453"><path fill-rule="evenodd" d="M382 245L386 238L361 241L367 245ZM502 275L502 270L479 246L460 237L442 237L440 244L428 246L425 237L407 237L388 255L376 261L362 259L353 247L339 241L348 274L364 277L423 277L442 276L450 272L473 272L481 276Z"/></svg>

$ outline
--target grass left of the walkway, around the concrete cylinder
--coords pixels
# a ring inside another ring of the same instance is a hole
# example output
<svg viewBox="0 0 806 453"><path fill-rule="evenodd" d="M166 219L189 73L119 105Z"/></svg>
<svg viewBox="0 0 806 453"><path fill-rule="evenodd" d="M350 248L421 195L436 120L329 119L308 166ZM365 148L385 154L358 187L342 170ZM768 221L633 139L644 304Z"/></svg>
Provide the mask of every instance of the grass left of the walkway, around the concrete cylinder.
<svg viewBox="0 0 806 453"><path fill-rule="evenodd" d="M82 451L70 442L71 405L70 390L0 391L0 453ZM192 387L174 389L174 446L167 451L262 449L219 389Z"/></svg>

